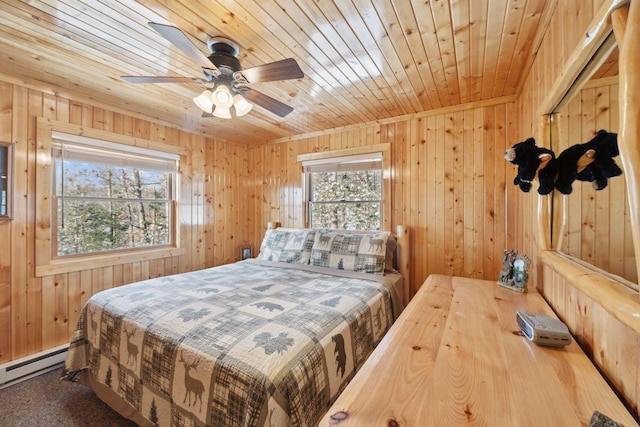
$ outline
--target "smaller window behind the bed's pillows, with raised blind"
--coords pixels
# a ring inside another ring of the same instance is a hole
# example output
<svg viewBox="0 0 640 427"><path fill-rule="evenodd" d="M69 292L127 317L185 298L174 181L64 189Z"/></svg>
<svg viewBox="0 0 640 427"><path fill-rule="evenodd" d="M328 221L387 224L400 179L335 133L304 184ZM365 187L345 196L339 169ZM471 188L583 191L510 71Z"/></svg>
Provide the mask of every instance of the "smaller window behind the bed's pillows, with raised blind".
<svg viewBox="0 0 640 427"><path fill-rule="evenodd" d="M309 226L380 230L382 225L382 153L303 162Z"/></svg>

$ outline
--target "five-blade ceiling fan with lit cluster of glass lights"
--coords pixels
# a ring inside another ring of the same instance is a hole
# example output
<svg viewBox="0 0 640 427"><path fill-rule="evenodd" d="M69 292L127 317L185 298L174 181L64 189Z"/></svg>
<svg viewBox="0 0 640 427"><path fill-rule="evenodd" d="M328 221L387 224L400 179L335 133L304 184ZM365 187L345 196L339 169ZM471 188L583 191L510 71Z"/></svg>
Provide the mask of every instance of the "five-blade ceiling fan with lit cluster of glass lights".
<svg viewBox="0 0 640 427"><path fill-rule="evenodd" d="M207 46L211 54L207 57L179 28L155 22L149 22L149 25L202 67L204 78L122 76L123 80L129 83L201 84L206 89L193 98L193 101L203 111L203 117L230 119L232 107L236 116L243 116L252 109L251 103L280 117L293 111L289 105L258 92L250 85L303 78L304 74L294 59L287 58L243 69L237 58L238 45L232 40L224 37L210 38Z"/></svg>

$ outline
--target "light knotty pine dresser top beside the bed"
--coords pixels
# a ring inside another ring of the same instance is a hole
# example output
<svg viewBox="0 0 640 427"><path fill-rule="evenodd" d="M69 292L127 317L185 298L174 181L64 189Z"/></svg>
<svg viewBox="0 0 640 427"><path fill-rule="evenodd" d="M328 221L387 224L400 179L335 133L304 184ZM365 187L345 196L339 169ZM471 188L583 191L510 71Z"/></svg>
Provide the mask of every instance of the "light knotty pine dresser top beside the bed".
<svg viewBox="0 0 640 427"><path fill-rule="evenodd" d="M556 317L532 289L430 276L320 426L637 425L575 341L521 336L519 310Z"/></svg>

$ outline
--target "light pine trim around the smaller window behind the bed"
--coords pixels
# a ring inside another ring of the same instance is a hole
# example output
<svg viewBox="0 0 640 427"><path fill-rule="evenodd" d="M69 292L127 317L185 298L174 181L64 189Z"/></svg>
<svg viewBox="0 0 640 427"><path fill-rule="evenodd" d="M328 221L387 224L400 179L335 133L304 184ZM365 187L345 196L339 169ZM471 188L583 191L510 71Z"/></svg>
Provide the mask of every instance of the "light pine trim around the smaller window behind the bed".
<svg viewBox="0 0 640 427"><path fill-rule="evenodd" d="M380 230L391 229L391 160L390 148L388 143L375 144L367 147L347 148L342 150L324 151L318 153L300 154L297 157L298 162L302 163L302 184L304 192L304 222L305 227L310 227L311 208L310 208L310 179L308 173L305 172L306 164L331 164L347 160L349 158L358 159L366 158L373 155L382 155L382 198L380 199Z"/></svg>

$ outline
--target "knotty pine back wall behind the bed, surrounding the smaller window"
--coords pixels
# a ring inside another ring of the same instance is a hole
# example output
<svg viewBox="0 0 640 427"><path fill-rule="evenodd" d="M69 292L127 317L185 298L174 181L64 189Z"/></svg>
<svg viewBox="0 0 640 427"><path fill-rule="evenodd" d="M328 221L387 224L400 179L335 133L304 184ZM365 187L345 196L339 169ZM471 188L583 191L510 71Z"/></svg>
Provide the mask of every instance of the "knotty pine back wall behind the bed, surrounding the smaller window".
<svg viewBox="0 0 640 427"><path fill-rule="evenodd" d="M496 279L503 250L513 247L507 195L515 168L503 158L515 134L512 111L506 101L468 104L249 149L254 249L269 221L305 225L298 154L389 143L385 202L391 229L410 228L412 289L434 273Z"/></svg>

